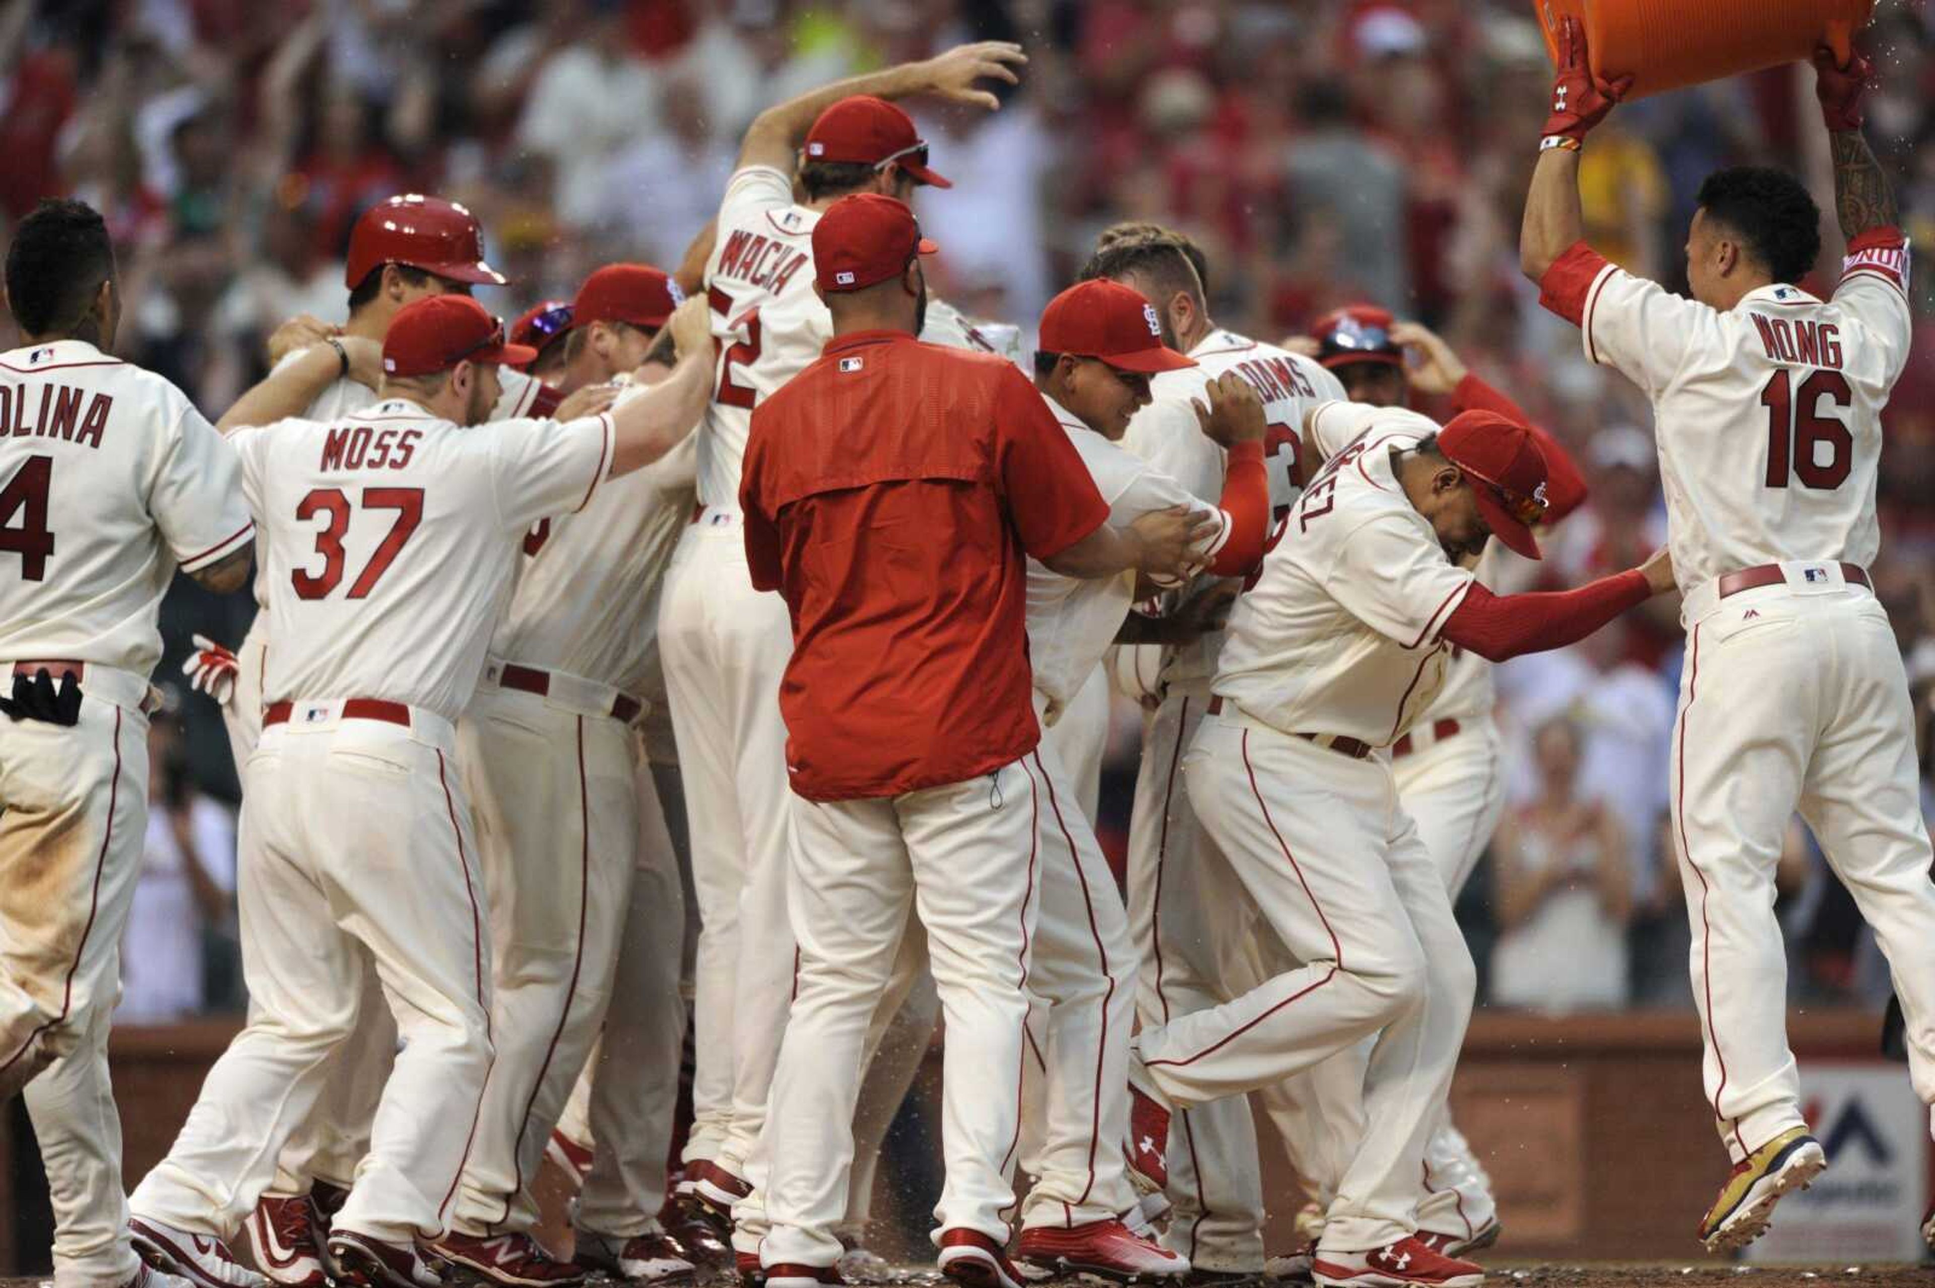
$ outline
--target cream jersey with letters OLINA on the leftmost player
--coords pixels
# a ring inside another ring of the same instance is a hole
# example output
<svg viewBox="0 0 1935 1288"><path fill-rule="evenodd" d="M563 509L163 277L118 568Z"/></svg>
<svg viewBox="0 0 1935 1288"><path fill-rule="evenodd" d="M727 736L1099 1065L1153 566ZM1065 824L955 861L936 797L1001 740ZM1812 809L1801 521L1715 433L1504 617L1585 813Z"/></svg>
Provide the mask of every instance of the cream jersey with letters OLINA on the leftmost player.
<svg viewBox="0 0 1935 1288"><path fill-rule="evenodd" d="M0 354L0 659L147 675L176 565L250 536L234 453L180 389L81 340Z"/></svg>

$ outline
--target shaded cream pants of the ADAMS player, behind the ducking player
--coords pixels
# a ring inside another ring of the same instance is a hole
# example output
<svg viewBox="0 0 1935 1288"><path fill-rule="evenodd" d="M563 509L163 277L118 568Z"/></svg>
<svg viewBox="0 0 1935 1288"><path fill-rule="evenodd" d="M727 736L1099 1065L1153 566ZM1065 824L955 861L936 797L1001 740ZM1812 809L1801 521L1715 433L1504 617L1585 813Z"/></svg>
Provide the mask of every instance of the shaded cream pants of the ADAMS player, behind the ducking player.
<svg viewBox="0 0 1935 1288"><path fill-rule="evenodd" d="M1173 692L1142 739L1128 828L1128 913L1142 965L1138 1011L1153 1029L1235 998L1250 897L1204 832L1182 756L1207 700ZM1146 1145L1136 1141L1138 1149ZM1204 1271L1262 1273L1264 1178L1242 1097L1178 1110L1165 1151L1175 1213L1165 1244Z"/></svg>

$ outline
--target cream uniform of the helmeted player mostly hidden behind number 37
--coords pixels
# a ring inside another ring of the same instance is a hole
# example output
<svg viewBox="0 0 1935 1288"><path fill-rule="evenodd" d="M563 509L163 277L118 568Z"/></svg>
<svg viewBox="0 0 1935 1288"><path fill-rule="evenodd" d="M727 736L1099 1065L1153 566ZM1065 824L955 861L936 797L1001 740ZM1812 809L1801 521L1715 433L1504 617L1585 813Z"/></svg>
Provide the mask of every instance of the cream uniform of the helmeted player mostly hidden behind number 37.
<svg viewBox="0 0 1935 1288"><path fill-rule="evenodd" d="M294 356L284 358L284 366ZM546 387L522 371L499 367L503 393L491 408L491 420L530 416L546 396ZM342 375L302 412L302 420L333 422L375 402L375 391ZM223 725L228 729L228 750L234 752L236 777L242 777L248 758L261 739L261 685L269 656L269 586L273 582L269 551L255 561L255 621L236 648L236 687L223 706ZM356 1164L370 1149L370 1124L375 1118L389 1064L397 1054L397 1025L375 973L364 975L364 1006L356 1033L337 1048L329 1062L329 1077L315 1108L288 1137L277 1158L271 1189L283 1195L308 1193L313 1180L348 1189Z"/></svg>

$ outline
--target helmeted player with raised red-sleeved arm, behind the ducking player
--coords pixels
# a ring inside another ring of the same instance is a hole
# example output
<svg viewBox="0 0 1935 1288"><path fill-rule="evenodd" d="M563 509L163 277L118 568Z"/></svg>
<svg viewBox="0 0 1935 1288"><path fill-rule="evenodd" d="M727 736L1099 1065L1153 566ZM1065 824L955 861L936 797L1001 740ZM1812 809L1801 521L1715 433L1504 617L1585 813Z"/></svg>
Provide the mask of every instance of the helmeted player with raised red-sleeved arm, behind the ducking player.
<svg viewBox="0 0 1935 1288"><path fill-rule="evenodd" d="M1318 362L1337 375L1353 402L1407 406L1416 389L1447 396L1453 412L1488 410L1525 424L1546 458L1546 524L1560 522L1585 503L1585 478L1558 439L1533 425L1517 402L1465 367L1432 331L1418 323L1399 323L1385 309L1356 304L1320 317L1312 325L1312 340ZM1407 354L1414 362L1407 364ZM1488 545L1474 565L1486 586L1498 584L1496 551L1496 545ZM1399 801L1416 824L1418 839L1438 864L1453 903L1471 880L1505 805L1494 706L1490 663L1453 648L1438 698L1391 745ZM1347 1122L1349 1116L1339 1112L1339 1097L1325 1093L1325 1079L1331 1077L1360 1083L1362 1060L1339 1056L1304 1077L1260 1093L1298 1172L1316 1187L1316 1213L1335 1193L1341 1168L1362 1131L1362 1124ZM1354 1098L1349 1089L1345 1095ZM1432 1133L1422 1184L1422 1242L1451 1257L1465 1257L1498 1242L1502 1226L1490 1180L1463 1133L1451 1126L1449 1112Z"/></svg>

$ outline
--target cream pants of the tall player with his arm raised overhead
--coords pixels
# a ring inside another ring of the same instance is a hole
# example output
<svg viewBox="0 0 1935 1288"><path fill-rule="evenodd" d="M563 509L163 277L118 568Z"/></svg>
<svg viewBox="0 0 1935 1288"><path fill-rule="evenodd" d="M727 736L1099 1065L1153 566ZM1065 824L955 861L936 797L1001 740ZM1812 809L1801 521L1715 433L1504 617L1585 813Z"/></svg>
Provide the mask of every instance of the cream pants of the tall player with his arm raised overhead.
<svg viewBox="0 0 1935 1288"><path fill-rule="evenodd" d="M743 540L735 511L706 511L671 553L658 615L702 921L685 1160L712 1158L737 1176L793 992L780 717L793 627L778 594L753 590Z"/></svg>

